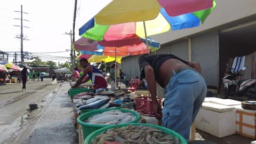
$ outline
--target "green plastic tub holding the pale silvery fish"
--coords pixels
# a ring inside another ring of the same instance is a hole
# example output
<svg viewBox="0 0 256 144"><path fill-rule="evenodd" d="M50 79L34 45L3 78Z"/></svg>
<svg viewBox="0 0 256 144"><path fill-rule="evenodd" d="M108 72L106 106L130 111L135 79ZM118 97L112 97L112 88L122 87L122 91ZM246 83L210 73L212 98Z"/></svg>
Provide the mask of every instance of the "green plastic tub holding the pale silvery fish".
<svg viewBox="0 0 256 144"><path fill-rule="evenodd" d="M90 111L90 112L85 113L83 115L80 115L77 118L77 123L82 126L84 139L89 134L91 134L92 132L101 129L102 127L110 126L110 125L88 124L88 123L85 123L84 121L86 119L88 119L89 117L93 116L93 115L101 114L101 113L103 113L105 111L109 111L109 110L120 110L123 113L132 113L137 118L134 119L133 121L129 122L129 123L137 123L137 122L140 121L140 114L135 112L135 111L132 111L132 110L127 110L127 109L98 109L98 110L93 110L93 111Z"/></svg>

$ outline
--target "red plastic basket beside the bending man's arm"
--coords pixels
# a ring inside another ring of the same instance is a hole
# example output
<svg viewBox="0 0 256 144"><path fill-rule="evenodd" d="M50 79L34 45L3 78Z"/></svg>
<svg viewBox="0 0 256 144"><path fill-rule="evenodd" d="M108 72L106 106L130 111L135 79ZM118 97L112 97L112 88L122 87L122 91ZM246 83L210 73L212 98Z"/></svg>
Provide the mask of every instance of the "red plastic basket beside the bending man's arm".
<svg viewBox="0 0 256 144"><path fill-rule="evenodd" d="M157 98L159 105L162 99ZM153 103L151 97L137 97L135 98L136 109L139 113L153 115Z"/></svg>

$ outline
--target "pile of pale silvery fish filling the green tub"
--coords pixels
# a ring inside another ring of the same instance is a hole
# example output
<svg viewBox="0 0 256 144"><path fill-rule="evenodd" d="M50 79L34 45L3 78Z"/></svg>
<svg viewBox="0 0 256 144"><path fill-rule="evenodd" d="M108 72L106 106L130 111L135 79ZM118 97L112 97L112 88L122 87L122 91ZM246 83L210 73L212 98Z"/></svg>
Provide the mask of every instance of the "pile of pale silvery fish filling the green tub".
<svg viewBox="0 0 256 144"><path fill-rule="evenodd" d="M85 122L91 124L123 124L131 122L135 118L132 113L123 113L120 110L109 110L89 117Z"/></svg>

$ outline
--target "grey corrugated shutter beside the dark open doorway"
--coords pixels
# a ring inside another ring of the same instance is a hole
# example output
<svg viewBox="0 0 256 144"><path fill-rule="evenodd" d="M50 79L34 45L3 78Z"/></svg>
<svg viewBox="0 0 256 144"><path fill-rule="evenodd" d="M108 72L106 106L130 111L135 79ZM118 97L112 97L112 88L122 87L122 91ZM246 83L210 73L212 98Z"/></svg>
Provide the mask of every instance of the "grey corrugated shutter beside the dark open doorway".
<svg viewBox="0 0 256 144"><path fill-rule="evenodd" d="M209 86L218 88L219 34L208 33L191 38L192 61L200 62Z"/></svg>

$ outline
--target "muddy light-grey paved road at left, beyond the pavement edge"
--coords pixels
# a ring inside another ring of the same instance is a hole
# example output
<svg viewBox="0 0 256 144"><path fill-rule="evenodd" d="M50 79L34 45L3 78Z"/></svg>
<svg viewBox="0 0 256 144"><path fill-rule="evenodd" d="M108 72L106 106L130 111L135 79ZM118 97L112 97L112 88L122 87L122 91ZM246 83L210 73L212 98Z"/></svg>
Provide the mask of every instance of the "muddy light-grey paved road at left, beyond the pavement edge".
<svg viewBox="0 0 256 144"><path fill-rule="evenodd" d="M50 79L29 81L25 92L21 91L22 84L0 86L0 139L22 124L21 115L26 113L30 103L41 101L58 85L52 85Z"/></svg>

